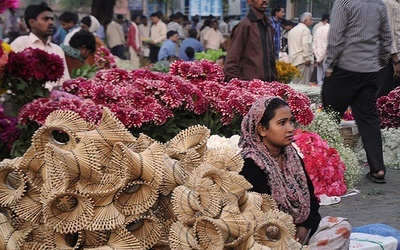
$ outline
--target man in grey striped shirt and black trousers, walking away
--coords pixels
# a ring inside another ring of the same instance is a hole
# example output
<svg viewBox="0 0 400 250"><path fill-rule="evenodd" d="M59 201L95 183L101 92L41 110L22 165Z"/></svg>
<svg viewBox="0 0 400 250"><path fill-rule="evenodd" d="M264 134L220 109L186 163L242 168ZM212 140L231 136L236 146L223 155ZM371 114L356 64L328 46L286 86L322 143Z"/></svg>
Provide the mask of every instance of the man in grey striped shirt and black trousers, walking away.
<svg viewBox="0 0 400 250"><path fill-rule="evenodd" d="M366 177L385 183L375 104L379 70L388 62L392 44L385 5L381 0L336 0L330 24L323 106L340 115L351 106L367 153L370 172Z"/></svg>

